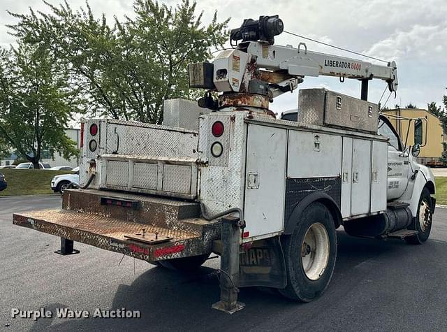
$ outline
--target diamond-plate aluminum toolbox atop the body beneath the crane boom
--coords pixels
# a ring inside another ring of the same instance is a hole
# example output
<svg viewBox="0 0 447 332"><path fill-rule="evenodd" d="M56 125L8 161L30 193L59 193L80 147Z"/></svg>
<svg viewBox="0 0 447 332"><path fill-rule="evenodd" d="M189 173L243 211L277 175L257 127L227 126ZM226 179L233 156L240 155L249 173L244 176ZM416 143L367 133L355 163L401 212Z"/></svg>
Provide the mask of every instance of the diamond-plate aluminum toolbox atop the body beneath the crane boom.
<svg viewBox="0 0 447 332"><path fill-rule="evenodd" d="M379 106L327 89L301 89L298 122L377 132Z"/></svg>

